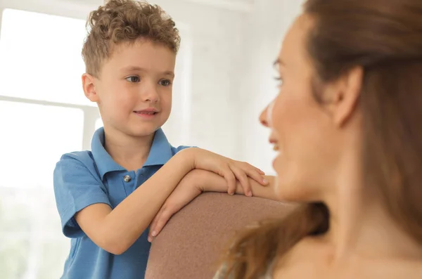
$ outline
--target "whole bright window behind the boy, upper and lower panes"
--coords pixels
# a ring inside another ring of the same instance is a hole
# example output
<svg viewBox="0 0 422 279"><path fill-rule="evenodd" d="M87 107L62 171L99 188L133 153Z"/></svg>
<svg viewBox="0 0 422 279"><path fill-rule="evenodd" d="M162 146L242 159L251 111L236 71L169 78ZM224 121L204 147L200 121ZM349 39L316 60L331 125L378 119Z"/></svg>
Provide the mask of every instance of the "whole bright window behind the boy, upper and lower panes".
<svg viewBox="0 0 422 279"><path fill-rule="evenodd" d="M0 34L0 278L57 279L60 231L53 169L89 148L98 113L81 74L84 20L4 10Z"/></svg>

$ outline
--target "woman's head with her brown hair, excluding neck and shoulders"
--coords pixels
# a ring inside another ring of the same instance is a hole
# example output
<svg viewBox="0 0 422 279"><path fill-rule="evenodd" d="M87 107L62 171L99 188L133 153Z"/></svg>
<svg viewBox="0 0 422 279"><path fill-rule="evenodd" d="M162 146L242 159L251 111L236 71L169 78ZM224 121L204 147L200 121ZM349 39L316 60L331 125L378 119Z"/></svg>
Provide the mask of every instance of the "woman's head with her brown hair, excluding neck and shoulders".
<svg viewBox="0 0 422 279"><path fill-rule="evenodd" d="M316 201L358 167L362 184L422 240L422 2L308 0L261 116L280 150L279 195ZM269 117L267 117L267 114Z"/></svg>

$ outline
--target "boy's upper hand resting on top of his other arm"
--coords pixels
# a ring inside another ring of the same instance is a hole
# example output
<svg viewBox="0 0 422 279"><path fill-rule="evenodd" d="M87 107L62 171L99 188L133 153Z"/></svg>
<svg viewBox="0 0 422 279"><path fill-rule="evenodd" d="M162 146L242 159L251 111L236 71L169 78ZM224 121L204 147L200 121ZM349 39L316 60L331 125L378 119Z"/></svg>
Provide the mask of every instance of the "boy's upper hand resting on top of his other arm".
<svg viewBox="0 0 422 279"><path fill-rule="evenodd" d="M222 155L200 148L188 148L186 151L192 156L193 169L212 171L215 174L223 176L229 185L227 193L230 195L234 195L236 191L236 179L240 181L243 193L249 197L252 196L252 190L248 177L263 186L268 183L268 181L264 179L264 171L257 167L253 167L246 162L231 160Z"/></svg>

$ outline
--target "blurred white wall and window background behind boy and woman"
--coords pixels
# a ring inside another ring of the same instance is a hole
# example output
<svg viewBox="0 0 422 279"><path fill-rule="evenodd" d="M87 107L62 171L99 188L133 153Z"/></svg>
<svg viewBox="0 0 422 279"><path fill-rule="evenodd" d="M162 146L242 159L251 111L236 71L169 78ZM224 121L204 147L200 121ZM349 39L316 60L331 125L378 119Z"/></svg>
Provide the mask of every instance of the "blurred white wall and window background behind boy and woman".
<svg viewBox="0 0 422 279"><path fill-rule="evenodd" d="M172 145L197 145L272 174L258 115L276 96L272 67L300 0L150 1L181 32ZM103 0L0 0L0 278L57 279L70 242L60 232L53 168L90 149L102 125L85 99L81 48Z"/></svg>

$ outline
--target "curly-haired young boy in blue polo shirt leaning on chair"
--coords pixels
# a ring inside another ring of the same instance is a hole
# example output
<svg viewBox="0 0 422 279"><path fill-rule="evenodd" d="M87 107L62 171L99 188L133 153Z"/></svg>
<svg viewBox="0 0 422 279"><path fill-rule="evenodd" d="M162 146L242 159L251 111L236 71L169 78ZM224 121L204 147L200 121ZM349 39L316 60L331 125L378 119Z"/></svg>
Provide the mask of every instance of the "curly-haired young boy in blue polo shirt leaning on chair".
<svg viewBox="0 0 422 279"><path fill-rule="evenodd" d="M231 194L251 195L248 177L267 182L249 164L168 143L160 127L170 115L180 39L158 6L112 0L91 12L88 24L82 84L85 96L98 104L104 127L94 134L92 151L65 154L54 170L63 233L72 238L62 278L143 278L148 226L186 174L202 169L206 175L196 172L200 181L212 172L219 185L201 190L228 187ZM198 187L173 195L176 210Z"/></svg>

